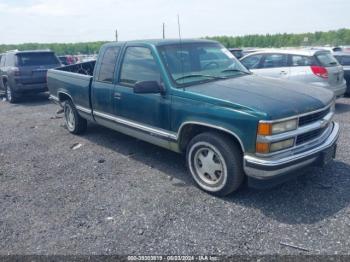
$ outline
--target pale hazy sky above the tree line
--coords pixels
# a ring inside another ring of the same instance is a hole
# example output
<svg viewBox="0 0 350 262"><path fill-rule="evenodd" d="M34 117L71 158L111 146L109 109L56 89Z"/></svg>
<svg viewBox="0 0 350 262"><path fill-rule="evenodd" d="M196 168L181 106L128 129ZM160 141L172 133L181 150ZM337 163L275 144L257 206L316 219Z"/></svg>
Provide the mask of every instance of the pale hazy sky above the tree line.
<svg viewBox="0 0 350 262"><path fill-rule="evenodd" d="M64 43L350 28L350 0L0 0L0 44Z"/></svg>

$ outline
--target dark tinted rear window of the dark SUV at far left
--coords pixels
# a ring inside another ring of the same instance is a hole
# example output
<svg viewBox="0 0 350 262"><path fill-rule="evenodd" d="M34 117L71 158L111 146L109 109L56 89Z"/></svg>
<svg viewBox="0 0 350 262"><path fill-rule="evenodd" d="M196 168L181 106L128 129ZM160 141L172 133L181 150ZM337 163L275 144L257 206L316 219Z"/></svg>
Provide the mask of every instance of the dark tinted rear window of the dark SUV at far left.
<svg viewBox="0 0 350 262"><path fill-rule="evenodd" d="M17 54L19 66L41 66L60 64L54 53L22 53Z"/></svg>

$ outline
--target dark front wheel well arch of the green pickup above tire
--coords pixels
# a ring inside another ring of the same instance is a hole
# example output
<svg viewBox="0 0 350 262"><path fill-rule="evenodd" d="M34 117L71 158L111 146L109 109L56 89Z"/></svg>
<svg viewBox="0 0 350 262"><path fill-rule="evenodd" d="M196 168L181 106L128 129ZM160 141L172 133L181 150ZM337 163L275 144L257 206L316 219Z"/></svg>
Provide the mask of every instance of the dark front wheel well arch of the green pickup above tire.
<svg viewBox="0 0 350 262"><path fill-rule="evenodd" d="M231 139L232 142L238 146L238 148L241 150L242 153L244 152L243 145L241 144L239 139L233 134L231 134L229 131L225 131L225 130L221 130L221 129L217 129L217 128L209 127L205 125L200 125L200 124L187 124L181 128L180 132L181 133L179 137L179 141L180 141L179 146L180 146L181 152L184 152L186 150L186 147L192 138L204 132L215 132L215 133L222 134L228 137L229 139Z"/></svg>

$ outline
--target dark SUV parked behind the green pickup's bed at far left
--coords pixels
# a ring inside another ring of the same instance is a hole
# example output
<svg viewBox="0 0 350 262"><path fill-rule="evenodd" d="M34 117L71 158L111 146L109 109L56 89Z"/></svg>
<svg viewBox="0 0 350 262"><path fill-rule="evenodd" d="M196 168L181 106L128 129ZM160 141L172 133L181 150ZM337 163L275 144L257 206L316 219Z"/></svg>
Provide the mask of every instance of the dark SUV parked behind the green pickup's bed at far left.
<svg viewBox="0 0 350 262"><path fill-rule="evenodd" d="M9 51L1 55L0 91L15 103L26 93L47 91L46 72L61 66L51 51Z"/></svg>

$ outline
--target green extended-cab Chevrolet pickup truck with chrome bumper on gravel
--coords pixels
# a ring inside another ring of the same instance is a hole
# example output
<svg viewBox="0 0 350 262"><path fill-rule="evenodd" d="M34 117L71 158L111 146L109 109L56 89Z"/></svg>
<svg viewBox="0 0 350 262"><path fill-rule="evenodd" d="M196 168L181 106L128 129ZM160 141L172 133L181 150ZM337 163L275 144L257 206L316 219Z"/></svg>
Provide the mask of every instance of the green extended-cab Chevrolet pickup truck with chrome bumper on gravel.
<svg viewBox="0 0 350 262"><path fill-rule="evenodd" d="M256 76L215 41L108 43L97 61L51 69L47 81L71 133L91 121L184 153L194 181L214 195L335 157L332 92Z"/></svg>

